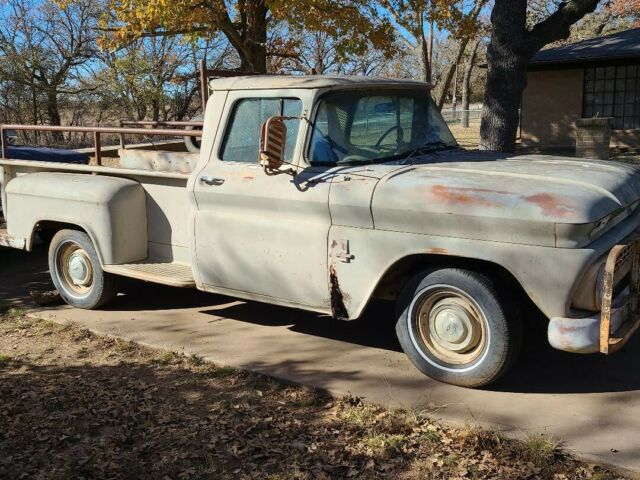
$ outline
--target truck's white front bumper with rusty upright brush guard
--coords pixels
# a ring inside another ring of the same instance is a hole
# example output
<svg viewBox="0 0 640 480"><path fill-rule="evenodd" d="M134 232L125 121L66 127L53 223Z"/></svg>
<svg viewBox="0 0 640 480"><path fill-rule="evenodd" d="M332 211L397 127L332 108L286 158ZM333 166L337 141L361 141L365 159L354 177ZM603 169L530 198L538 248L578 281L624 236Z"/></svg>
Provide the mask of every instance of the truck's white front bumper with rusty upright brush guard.
<svg viewBox="0 0 640 480"><path fill-rule="evenodd" d="M640 240L611 250L602 297L601 311L592 316L552 318L548 330L551 346L573 353L608 355L629 341L640 327Z"/></svg>

